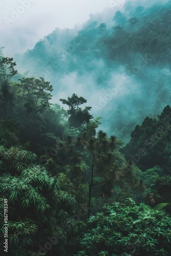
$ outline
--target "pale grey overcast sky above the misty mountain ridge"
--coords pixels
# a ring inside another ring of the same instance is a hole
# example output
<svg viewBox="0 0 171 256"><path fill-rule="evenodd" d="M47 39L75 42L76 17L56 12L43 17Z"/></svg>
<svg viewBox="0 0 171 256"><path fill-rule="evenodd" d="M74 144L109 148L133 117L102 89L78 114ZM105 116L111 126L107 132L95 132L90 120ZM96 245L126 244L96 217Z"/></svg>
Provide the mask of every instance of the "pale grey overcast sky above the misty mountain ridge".
<svg viewBox="0 0 171 256"><path fill-rule="evenodd" d="M124 0L0 0L0 45L5 54L25 52L55 28L73 28L90 13Z"/></svg>

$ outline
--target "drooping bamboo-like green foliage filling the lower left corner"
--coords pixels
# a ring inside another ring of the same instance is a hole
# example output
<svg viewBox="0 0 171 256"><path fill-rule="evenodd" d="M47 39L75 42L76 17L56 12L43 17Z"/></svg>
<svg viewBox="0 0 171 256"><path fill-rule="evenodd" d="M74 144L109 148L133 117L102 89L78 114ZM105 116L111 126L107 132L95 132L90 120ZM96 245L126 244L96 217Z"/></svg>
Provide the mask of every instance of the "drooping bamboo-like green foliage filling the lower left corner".
<svg viewBox="0 0 171 256"><path fill-rule="evenodd" d="M44 166L35 163L36 155L32 152L3 146L0 150L0 214L3 216L6 198L11 255L33 255L39 244L49 242L48 236L56 236L59 230L62 239L53 245L53 252L66 253L67 244L72 250L82 225L72 218L78 207L73 184L64 174L50 175ZM0 228L3 238L3 223Z"/></svg>

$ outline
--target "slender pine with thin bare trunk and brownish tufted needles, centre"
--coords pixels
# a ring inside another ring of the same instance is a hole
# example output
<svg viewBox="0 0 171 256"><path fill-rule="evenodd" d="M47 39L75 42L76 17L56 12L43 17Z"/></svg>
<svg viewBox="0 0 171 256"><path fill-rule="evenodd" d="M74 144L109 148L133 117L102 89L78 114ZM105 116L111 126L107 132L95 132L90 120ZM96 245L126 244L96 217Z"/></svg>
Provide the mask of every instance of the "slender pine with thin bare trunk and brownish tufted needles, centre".
<svg viewBox="0 0 171 256"><path fill-rule="evenodd" d="M74 179L82 176L88 181L88 218L91 214L92 198L100 196L104 202L111 196L114 184L131 183L132 167L124 164L124 159L117 150L118 143L115 136L109 138L99 131L96 137L88 138L86 133L77 138L66 136L58 144L58 157L72 166ZM82 162L88 166L87 173L81 168Z"/></svg>

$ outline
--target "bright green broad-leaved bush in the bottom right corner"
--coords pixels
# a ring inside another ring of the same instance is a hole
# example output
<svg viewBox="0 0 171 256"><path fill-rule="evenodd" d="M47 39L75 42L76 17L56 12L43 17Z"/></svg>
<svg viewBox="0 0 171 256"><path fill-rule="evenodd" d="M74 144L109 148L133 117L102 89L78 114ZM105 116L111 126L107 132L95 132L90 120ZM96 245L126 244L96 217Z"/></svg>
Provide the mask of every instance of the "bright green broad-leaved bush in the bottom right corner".
<svg viewBox="0 0 171 256"><path fill-rule="evenodd" d="M106 255L161 255L156 253L162 251L169 255L171 220L156 209L147 208L143 203L136 205L131 198L125 203L104 206L103 211L88 222L88 231L80 242L82 255L95 256L102 251L108 251Z"/></svg>

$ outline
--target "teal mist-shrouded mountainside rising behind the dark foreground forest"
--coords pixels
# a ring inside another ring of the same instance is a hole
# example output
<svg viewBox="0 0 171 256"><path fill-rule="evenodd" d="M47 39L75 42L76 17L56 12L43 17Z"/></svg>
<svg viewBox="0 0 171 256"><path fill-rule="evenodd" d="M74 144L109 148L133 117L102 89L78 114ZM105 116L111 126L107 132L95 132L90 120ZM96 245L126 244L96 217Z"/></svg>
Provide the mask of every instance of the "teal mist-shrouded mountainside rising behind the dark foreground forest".
<svg viewBox="0 0 171 256"><path fill-rule="evenodd" d="M51 81L56 101L77 84L92 114L103 117L100 128L128 142L137 121L170 104L170 9L169 2L106 8L81 29L56 28L14 59L21 72Z"/></svg>

